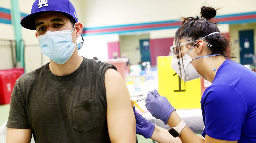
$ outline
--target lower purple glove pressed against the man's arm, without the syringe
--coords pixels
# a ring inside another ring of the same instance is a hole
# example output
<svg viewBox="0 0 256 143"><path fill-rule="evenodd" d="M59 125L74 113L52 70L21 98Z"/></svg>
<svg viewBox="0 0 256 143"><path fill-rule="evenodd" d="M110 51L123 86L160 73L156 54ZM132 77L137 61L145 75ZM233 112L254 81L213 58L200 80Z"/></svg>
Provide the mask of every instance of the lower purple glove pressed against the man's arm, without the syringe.
<svg viewBox="0 0 256 143"><path fill-rule="evenodd" d="M137 113L135 107L133 107L133 112L136 120L136 134L142 135L145 138L150 138L155 129L155 125Z"/></svg>

